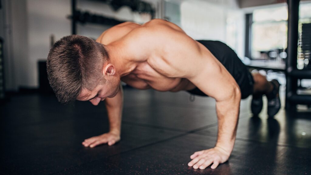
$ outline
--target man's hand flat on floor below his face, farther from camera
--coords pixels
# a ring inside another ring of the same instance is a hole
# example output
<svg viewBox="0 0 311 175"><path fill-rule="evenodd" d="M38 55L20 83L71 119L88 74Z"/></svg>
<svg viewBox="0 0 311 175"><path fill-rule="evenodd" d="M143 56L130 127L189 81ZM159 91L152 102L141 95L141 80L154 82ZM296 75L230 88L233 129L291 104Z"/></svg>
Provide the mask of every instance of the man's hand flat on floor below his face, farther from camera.
<svg viewBox="0 0 311 175"><path fill-rule="evenodd" d="M97 145L100 144L106 144L108 143L109 146L115 144L116 142L118 142L120 140L120 134L115 133L115 132L108 132L99 136L94 136L91 137L89 139L84 140L84 142L82 142L82 144L85 147L90 147L93 148Z"/></svg>

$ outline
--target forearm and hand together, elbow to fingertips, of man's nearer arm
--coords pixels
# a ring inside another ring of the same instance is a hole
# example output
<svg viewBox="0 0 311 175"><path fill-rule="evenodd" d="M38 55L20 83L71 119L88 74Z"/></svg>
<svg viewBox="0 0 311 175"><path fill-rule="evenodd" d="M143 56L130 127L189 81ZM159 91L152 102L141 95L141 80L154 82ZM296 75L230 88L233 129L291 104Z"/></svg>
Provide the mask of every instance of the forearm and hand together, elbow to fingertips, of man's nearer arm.
<svg viewBox="0 0 311 175"><path fill-rule="evenodd" d="M241 95L239 89L233 90L232 95L226 99L216 99L218 117L218 137L216 146L192 154L190 156L192 161L188 163L188 166L192 166L195 169L205 169L211 165L211 168L215 169L220 163L224 163L228 160L234 147L240 99Z"/></svg>

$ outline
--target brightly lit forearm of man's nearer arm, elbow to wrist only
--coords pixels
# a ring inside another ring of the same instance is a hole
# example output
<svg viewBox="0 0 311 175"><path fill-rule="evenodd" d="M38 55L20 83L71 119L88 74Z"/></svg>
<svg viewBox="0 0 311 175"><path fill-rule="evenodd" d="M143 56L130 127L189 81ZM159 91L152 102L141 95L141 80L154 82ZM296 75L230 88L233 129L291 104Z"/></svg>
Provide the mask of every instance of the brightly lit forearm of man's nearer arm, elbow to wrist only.
<svg viewBox="0 0 311 175"><path fill-rule="evenodd" d="M239 89L226 100L216 102L218 138L216 147L231 154L236 137L241 95Z"/></svg>

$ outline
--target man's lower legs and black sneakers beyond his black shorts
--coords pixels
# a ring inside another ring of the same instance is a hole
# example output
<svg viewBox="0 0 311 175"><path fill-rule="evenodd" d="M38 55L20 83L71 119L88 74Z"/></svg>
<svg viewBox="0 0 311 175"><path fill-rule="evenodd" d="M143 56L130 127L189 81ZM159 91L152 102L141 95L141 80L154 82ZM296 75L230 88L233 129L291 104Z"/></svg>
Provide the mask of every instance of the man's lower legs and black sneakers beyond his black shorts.
<svg viewBox="0 0 311 175"><path fill-rule="evenodd" d="M259 73L253 73L253 100L252 112L257 116L262 110L262 95L268 99L268 115L274 116L281 108L279 97L280 83L277 80L267 81L267 78Z"/></svg>

